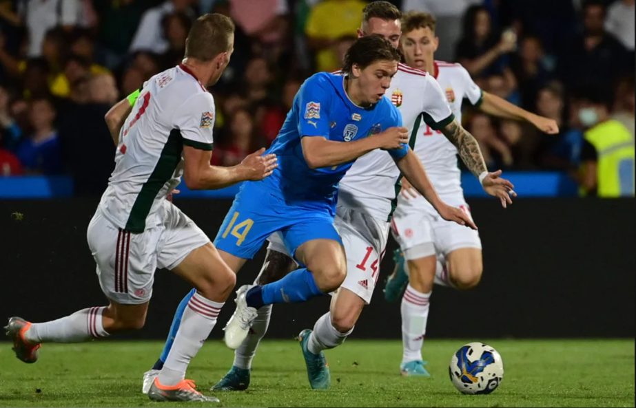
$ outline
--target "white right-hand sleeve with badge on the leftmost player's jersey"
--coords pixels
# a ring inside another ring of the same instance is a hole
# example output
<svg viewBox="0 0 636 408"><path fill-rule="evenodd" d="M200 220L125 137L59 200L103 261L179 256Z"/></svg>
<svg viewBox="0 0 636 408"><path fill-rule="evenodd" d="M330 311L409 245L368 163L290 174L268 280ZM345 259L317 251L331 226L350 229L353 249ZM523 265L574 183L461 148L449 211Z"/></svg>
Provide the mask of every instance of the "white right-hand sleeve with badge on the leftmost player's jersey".
<svg viewBox="0 0 636 408"><path fill-rule="evenodd" d="M181 131L183 144L212 150L214 142L214 98L207 92L195 94L174 112L172 126Z"/></svg>

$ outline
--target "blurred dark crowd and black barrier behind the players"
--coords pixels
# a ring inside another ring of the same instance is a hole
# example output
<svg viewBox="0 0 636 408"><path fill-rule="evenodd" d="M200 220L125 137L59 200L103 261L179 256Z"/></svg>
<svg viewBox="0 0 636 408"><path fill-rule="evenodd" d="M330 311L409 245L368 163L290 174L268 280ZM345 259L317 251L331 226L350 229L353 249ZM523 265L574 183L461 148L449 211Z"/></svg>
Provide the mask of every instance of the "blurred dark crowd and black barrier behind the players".
<svg viewBox="0 0 636 408"><path fill-rule="evenodd" d="M0 236L4 270L10 271L4 292L12 294L0 312L12 315L10 299L27 293L47 305L56 299L59 304L45 310L39 302L21 305L25 317L40 321L103 296L85 243L114 168L103 116L150 76L181 61L196 17L220 12L236 23L232 61L211 89L217 109L212 164L229 166L276 138L305 78L340 67L366 3L0 0ZM465 326L444 320L460 316L472 324L469 332L488 336L633 336L635 1L392 3L435 15L436 58L462 63L485 91L560 126L548 136L522 122L464 111L463 125L480 143L489 169L504 169L520 197L504 211L479 198L478 181L464 173L484 242L484 280L469 294L436 289L447 309L433 314L429 333L465 333ZM630 154L600 166L605 154L626 147L590 149L586 131L606 121L630 133ZM620 187L594 198L598 180ZM214 237L236 187L180 189L176 204ZM627 198L605 200L618 196ZM380 279L391 272L388 258ZM259 264L251 265L239 283L252 281ZM59 302L57 288L68 301ZM372 305L378 310L386 307L382 288L378 283ZM174 277L157 279L152 335L165 334L187 289ZM318 301L316 316L326 301ZM287 336L285 325L304 307L283 306L288 312L282 326L273 323L275 335ZM487 319L471 321L466 310L486 310ZM397 338L399 308L386 313L360 327L370 328L369 336Z"/></svg>

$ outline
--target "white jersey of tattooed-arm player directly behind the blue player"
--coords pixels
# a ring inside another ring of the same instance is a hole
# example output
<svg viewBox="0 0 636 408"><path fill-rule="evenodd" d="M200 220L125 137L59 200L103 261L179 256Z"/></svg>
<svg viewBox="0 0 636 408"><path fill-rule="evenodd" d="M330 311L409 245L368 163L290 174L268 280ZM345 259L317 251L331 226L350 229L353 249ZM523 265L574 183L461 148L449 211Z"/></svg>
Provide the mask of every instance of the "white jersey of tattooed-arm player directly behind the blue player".
<svg viewBox="0 0 636 408"><path fill-rule="evenodd" d="M441 129L454 118L433 76L404 64L398 65L384 98L389 98L402 114L402 125L411 134L411 147L414 135L421 133L420 120L432 129ZM400 171L389 153L380 149L371 151L358 158L340 181L338 205L387 221L394 208L399 177Z"/></svg>

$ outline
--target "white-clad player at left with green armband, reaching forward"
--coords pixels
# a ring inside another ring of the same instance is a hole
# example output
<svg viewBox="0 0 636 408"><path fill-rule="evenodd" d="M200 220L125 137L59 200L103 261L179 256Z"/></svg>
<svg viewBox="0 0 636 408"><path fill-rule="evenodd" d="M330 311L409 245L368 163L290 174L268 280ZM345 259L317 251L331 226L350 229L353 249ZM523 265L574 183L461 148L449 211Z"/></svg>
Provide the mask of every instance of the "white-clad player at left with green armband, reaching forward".
<svg viewBox="0 0 636 408"><path fill-rule="evenodd" d="M233 51L234 23L222 14L205 14L187 36L183 63L147 80L134 106L125 99L107 114L115 169L88 226L88 246L110 304L45 323L12 317L5 329L20 360L37 361L41 343L90 341L142 328L154 272L167 268L196 293L149 396L218 402L196 391L185 371L214 328L236 276L205 233L166 197L181 175L191 189L218 189L262 180L276 167L276 157L262 151L235 167L209 165L214 99L205 87L220 78Z"/></svg>

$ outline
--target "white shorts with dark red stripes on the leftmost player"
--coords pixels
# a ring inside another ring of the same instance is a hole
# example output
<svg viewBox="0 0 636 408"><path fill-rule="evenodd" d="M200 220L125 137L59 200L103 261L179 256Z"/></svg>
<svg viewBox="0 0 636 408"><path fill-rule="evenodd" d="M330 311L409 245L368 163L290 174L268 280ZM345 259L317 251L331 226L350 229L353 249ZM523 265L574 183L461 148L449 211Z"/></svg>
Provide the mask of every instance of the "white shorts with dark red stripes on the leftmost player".
<svg viewBox="0 0 636 408"><path fill-rule="evenodd" d="M99 285L108 299L125 305L145 303L152 296L154 271L173 269L192 250L209 242L201 228L170 202L163 224L133 234L97 210L88 225L88 246L97 264Z"/></svg>

